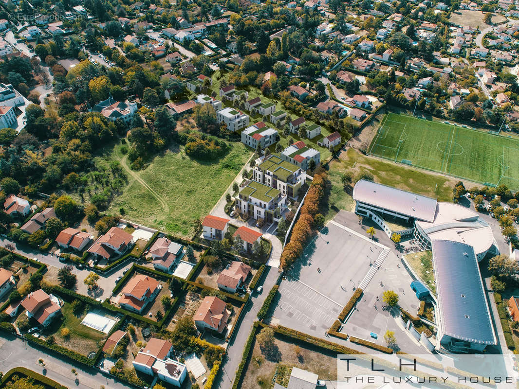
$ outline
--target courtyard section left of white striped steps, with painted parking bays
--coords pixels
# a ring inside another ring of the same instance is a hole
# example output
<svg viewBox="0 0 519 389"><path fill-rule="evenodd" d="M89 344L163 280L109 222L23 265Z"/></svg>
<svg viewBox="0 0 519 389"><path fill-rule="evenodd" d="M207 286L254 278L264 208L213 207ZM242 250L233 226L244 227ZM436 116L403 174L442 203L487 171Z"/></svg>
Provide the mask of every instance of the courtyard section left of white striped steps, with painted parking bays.
<svg viewBox="0 0 519 389"><path fill-rule="evenodd" d="M322 334L383 251L368 238L329 223L281 282L274 322Z"/></svg>

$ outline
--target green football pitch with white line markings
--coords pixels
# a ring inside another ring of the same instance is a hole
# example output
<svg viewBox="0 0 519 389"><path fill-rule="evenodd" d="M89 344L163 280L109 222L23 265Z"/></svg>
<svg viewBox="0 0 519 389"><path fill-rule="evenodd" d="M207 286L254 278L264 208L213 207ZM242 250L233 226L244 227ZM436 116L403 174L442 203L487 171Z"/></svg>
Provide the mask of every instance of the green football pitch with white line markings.
<svg viewBox="0 0 519 389"><path fill-rule="evenodd" d="M519 140L389 113L368 149L374 156L519 190Z"/></svg>

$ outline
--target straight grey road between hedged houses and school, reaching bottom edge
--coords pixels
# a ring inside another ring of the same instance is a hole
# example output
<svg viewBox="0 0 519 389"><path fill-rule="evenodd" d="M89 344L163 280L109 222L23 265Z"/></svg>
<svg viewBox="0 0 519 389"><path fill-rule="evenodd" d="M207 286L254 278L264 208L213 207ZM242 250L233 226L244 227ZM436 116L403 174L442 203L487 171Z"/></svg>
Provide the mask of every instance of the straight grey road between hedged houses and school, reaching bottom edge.
<svg viewBox="0 0 519 389"><path fill-rule="evenodd" d="M229 348L227 349L222 371L217 377L217 379L220 379L220 382L218 382L216 386L218 389L229 389L233 386L236 370L241 362L245 343L247 343L247 339L249 338L252 325L257 320L257 311L261 308L272 286L276 284L279 275L278 269L268 267L265 272L267 274L263 275L263 279L265 280L263 282L263 293L261 295L254 293L251 296L247 306L244 308L245 315L241 323L239 323L240 328L235 332L236 335L234 339L229 342Z"/></svg>

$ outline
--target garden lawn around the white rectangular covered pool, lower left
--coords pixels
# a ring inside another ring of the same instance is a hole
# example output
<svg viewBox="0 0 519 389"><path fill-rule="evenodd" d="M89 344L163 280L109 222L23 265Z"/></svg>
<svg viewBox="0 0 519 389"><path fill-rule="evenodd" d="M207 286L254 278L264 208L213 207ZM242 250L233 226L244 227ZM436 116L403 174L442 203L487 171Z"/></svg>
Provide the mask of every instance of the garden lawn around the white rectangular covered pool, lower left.
<svg viewBox="0 0 519 389"><path fill-rule="evenodd" d="M65 301L63 307L61 307L61 313L63 316L56 318L49 328L44 331L44 335L47 337L53 335L57 344L85 356L90 352L97 352L100 342L106 339L107 335L104 332L81 324L81 320L83 320L87 312L85 311L76 316L72 312L72 305ZM66 338L61 336L61 330L65 327L70 330L70 336Z"/></svg>

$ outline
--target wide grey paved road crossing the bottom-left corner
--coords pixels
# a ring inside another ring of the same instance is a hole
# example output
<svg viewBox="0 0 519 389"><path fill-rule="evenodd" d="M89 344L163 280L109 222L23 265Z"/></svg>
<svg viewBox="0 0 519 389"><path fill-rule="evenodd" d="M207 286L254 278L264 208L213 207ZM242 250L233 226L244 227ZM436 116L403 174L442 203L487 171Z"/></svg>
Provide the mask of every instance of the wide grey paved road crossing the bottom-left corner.
<svg viewBox="0 0 519 389"><path fill-rule="evenodd" d="M22 341L14 336L0 334L0 371L7 373L8 370L15 367L25 367L44 374L44 376L59 382L62 385L80 389L99 389L101 385L107 388L124 389L128 386L115 381L111 377L104 376L97 369L88 369L79 364L71 363L63 356L49 355L49 351L40 350L31 343ZM42 358L45 363L46 370L43 371L42 366L38 365L38 359ZM78 375L77 381L71 369L75 368Z"/></svg>

